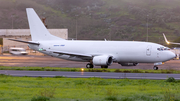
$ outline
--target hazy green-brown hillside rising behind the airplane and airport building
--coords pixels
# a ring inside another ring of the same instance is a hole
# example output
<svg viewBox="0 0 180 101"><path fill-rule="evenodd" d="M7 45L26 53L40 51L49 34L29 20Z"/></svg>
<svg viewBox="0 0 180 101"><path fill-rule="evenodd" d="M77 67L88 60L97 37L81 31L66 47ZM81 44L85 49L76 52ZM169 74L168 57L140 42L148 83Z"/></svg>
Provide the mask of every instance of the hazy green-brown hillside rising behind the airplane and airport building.
<svg viewBox="0 0 180 101"><path fill-rule="evenodd" d="M48 28L68 28L70 38L77 25L80 40L146 41L147 22L148 41L180 36L179 0L0 0L0 28L28 28L28 7L46 17Z"/></svg>

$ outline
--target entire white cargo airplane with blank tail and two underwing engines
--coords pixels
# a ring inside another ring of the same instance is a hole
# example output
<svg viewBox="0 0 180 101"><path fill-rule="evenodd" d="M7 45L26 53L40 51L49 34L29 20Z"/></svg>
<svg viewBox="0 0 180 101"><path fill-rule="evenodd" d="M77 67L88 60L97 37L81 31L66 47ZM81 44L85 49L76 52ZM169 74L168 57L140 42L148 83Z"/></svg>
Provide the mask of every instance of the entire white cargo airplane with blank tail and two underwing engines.
<svg viewBox="0 0 180 101"><path fill-rule="evenodd" d="M33 8L26 11L32 41L10 40L28 43L31 49L53 57L89 62L87 68L108 68L113 62L122 66L154 63L153 69L157 70L157 65L175 57L168 48L150 42L64 40L48 32Z"/></svg>

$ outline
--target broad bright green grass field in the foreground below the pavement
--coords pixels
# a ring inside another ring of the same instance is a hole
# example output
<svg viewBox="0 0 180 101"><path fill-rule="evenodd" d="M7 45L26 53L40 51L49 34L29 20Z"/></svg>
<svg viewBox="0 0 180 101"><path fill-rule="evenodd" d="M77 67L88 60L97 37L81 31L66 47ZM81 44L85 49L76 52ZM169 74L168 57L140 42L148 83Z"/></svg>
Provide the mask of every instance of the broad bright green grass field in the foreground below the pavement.
<svg viewBox="0 0 180 101"><path fill-rule="evenodd" d="M0 75L2 101L178 101L180 82Z"/></svg>

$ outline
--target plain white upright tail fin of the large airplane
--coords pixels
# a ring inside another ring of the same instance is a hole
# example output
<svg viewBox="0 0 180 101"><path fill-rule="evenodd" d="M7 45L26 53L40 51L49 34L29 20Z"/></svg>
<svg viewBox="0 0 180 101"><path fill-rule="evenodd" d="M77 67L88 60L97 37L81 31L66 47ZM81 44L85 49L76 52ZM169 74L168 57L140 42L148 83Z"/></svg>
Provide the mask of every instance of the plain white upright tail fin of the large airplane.
<svg viewBox="0 0 180 101"><path fill-rule="evenodd" d="M26 8L26 12L32 41L64 40L49 33L33 8Z"/></svg>

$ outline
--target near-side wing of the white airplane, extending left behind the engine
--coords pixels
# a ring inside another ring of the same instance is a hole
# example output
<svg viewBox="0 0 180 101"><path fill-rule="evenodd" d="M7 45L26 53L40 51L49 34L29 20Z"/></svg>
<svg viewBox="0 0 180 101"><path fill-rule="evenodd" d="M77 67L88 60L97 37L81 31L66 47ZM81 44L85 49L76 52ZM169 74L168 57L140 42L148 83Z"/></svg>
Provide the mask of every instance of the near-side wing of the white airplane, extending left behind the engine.
<svg viewBox="0 0 180 101"><path fill-rule="evenodd" d="M52 50L51 50L52 51ZM93 56L89 54L80 54L80 53L72 53L72 52L63 52L63 51L52 51L53 53L57 53L60 55L70 55L70 56L77 56L77 57L87 57L92 59Z"/></svg>

